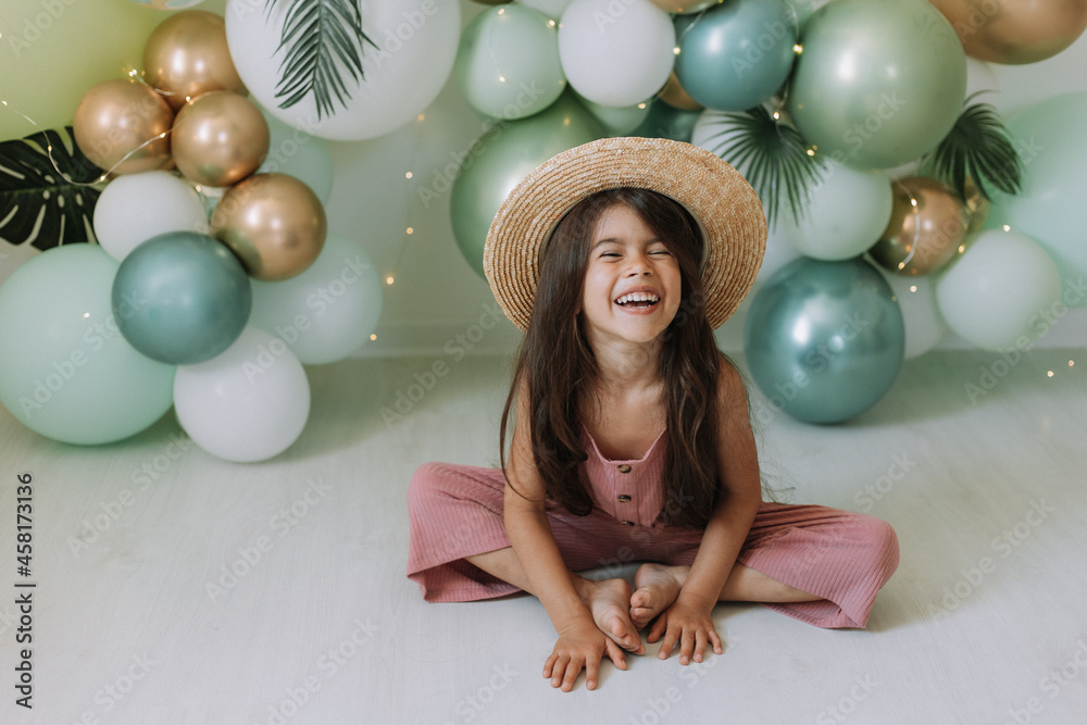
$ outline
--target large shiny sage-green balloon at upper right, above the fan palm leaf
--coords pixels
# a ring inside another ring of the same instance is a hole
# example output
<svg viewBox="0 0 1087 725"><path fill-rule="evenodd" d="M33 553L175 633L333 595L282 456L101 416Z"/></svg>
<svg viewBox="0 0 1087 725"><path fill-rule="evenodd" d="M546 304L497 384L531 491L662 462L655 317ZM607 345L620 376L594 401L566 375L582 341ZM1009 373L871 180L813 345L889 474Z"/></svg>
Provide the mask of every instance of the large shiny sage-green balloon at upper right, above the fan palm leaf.
<svg viewBox="0 0 1087 725"><path fill-rule="evenodd" d="M962 111L966 54L925 0L834 0L808 20L800 45L788 111L809 142L839 161L913 161Z"/></svg>

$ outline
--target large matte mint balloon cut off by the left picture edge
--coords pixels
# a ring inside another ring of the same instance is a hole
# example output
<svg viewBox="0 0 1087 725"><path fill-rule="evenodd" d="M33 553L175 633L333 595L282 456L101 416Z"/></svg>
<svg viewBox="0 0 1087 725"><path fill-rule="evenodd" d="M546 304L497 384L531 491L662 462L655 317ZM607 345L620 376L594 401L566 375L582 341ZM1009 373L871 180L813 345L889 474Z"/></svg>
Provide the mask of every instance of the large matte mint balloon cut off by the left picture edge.
<svg viewBox="0 0 1087 725"><path fill-rule="evenodd" d="M0 285L0 402L32 430L92 446L133 436L170 410L174 372L117 329L117 262L98 245L54 247Z"/></svg>

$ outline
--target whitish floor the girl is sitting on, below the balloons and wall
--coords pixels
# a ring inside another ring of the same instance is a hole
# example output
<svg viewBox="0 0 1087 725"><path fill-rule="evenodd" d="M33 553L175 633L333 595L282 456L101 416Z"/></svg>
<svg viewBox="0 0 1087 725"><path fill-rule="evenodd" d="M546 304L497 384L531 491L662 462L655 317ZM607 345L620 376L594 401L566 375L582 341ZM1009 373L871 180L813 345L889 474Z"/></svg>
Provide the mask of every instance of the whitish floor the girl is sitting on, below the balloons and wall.
<svg viewBox="0 0 1087 725"><path fill-rule="evenodd" d="M253 465L187 443L172 415L76 448L0 412L0 723L1087 722L1087 355L1075 355L929 353L833 427L767 415L753 393L764 468L794 487L785 500L898 530L901 565L869 628L722 604L723 655L605 665L592 692L540 676L553 632L535 599L427 604L403 575L412 471L495 464L505 361L451 364L389 424L380 409L433 359L310 368L301 439ZM983 367L996 386L972 402ZM14 704L25 472L30 712Z"/></svg>

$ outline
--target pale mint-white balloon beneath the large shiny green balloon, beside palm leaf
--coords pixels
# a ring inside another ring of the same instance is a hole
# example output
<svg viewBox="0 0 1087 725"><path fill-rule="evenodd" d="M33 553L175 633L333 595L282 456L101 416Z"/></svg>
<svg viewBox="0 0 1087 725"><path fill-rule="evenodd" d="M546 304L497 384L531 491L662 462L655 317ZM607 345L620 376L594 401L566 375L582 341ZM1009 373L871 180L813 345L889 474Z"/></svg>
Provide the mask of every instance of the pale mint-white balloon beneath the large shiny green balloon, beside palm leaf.
<svg viewBox="0 0 1087 725"><path fill-rule="evenodd" d="M798 220L782 214L783 234L800 253L817 260L863 254L879 239L891 213L891 184L880 171L827 161Z"/></svg>

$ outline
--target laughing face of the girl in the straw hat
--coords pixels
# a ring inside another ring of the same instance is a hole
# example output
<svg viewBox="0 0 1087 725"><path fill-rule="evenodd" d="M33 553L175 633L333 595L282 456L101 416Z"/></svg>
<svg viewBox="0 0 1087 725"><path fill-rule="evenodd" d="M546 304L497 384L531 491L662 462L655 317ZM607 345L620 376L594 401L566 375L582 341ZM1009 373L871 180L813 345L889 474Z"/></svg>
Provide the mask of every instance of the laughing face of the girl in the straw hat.
<svg viewBox="0 0 1087 725"><path fill-rule="evenodd" d="M626 204L605 209L589 245L579 312L590 340L649 342L679 309L679 264Z"/></svg>

